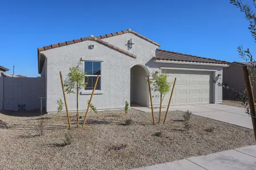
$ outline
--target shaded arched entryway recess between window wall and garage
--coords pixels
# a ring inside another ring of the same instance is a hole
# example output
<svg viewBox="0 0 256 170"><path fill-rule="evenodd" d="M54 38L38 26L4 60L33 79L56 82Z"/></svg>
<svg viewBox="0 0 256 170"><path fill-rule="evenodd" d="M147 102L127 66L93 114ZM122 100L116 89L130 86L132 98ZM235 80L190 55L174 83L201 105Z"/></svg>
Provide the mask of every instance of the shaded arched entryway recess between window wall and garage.
<svg viewBox="0 0 256 170"><path fill-rule="evenodd" d="M143 65L135 65L131 67L130 79L130 103L148 106L148 85L147 75L149 71Z"/></svg>

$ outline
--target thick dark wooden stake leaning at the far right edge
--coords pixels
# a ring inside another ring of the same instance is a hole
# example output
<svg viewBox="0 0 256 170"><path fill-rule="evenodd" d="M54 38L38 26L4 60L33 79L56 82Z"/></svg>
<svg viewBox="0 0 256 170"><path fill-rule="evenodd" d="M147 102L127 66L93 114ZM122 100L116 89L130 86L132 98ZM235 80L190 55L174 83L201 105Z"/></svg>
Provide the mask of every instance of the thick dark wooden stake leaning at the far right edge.
<svg viewBox="0 0 256 170"><path fill-rule="evenodd" d="M253 94L253 88L251 87L251 78L247 66L242 66L243 68L243 77L245 78L245 87L248 97L248 103L251 112L251 121L253 122L254 138L256 141L256 108L255 108L255 99Z"/></svg>

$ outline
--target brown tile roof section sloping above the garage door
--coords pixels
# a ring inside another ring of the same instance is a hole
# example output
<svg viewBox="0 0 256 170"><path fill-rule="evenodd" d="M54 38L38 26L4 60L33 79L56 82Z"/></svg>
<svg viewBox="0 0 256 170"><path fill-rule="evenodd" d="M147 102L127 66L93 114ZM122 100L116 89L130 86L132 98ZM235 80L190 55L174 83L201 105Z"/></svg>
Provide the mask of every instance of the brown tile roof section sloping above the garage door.
<svg viewBox="0 0 256 170"><path fill-rule="evenodd" d="M214 63L214 64L222 64L222 65L230 64L230 62L222 61L218 59L192 56L189 54L170 52L162 49L156 49L154 59L167 60L167 61L181 61L181 62Z"/></svg>

